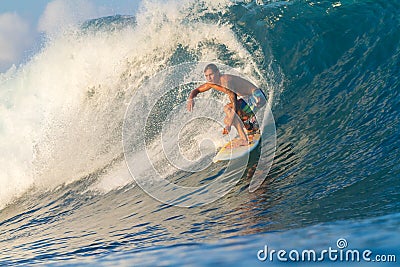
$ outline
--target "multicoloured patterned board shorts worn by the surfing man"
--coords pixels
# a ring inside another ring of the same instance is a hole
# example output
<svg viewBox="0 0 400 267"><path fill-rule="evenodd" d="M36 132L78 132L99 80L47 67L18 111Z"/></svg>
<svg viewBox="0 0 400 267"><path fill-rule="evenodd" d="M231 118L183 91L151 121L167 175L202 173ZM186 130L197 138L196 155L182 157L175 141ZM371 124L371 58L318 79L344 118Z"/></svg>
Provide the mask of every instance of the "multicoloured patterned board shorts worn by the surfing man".
<svg viewBox="0 0 400 267"><path fill-rule="evenodd" d="M261 107L260 98L263 98L266 101L264 92L257 89L252 95L238 100L239 106L237 114L242 120L246 130L251 133L258 132L260 128L255 115L257 110Z"/></svg>

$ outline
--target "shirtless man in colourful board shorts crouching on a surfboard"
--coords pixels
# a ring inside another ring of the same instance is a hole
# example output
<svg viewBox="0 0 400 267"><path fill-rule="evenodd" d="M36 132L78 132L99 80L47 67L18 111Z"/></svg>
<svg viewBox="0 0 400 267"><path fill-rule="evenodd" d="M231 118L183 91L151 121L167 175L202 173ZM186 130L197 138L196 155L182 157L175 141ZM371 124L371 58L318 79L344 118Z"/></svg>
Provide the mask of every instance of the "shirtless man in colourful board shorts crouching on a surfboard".
<svg viewBox="0 0 400 267"><path fill-rule="evenodd" d="M221 74L215 64L208 64L204 68L204 76L207 82L190 92L187 100L187 110L192 111L194 107L193 99L199 93L215 89L227 94L230 103L224 106L226 117L224 119L225 128L222 133L228 134L233 125L239 134L239 139L235 140L233 145L248 145L249 138L241 126L240 120L248 133L251 134L258 131L258 123L254 113L257 108L266 103L264 92L242 77L231 74ZM240 98L238 98L238 96ZM238 116L235 116L235 113ZM238 118L240 118L240 120Z"/></svg>

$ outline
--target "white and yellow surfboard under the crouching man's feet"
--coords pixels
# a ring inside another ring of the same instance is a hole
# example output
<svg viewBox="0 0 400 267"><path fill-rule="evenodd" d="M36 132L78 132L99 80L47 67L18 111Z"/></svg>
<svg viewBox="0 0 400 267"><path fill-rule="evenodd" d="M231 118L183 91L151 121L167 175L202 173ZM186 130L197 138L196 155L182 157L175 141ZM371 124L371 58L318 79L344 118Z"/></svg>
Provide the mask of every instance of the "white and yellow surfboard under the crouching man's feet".
<svg viewBox="0 0 400 267"><path fill-rule="evenodd" d="M215 155L213 158L213 162L216 163L218 161L224 161L224 160L231 160L231 159L237 159L240 157L245 156L246 154L250 153L254 148L257 147L258 143L260 142L261 135L260 134L254 134L249 136L249 140L251 143L248 146L238 146L231 148L231 142L225 144Z"/></svg>

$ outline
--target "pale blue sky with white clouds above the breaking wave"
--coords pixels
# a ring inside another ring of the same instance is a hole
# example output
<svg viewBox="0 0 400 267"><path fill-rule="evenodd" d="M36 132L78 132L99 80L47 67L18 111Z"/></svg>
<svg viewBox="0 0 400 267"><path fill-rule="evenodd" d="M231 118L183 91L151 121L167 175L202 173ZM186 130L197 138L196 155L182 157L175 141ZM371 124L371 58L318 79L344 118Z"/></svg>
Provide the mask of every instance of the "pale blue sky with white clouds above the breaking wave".
<svg viewBox="0 0 400 267"><path fill-rule="evenodd" d="M0 0L0 72L20 65L61 26L135 14L140 0Z"/></svg>

